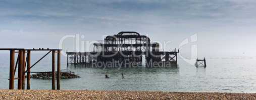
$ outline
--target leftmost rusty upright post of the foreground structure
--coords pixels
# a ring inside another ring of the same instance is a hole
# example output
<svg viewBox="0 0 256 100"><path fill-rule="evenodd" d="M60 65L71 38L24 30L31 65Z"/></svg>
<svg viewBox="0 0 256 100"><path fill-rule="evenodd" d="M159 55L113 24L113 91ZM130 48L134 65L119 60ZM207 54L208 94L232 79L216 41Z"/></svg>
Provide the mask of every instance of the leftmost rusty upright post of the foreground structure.
<svg viewBox="0 0 256 100"><path fill-rule="evenodd" d="M14 65L15 64L15 50L10 50L10 80L9 89L14 89Z"/></svg>

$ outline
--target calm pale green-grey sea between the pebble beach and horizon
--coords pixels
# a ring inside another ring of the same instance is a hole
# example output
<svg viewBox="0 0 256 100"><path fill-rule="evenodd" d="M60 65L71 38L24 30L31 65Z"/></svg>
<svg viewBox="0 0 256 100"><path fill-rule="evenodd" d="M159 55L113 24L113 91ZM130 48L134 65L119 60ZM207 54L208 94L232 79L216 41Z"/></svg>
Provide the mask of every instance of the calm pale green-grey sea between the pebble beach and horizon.
<svg viewBox="0 0 256 100"><path fill-rule="evenodd" d="M43 53L32 53L31 64L43 55ZM32 68L32 71L50 71L51 57L46 56ZM63 69L70 69L81 76L62 79L62 89L256 92L256 58L254 57L207 58L206 68L196 68L182 59L178 59L177 68L67 67L65 56L62 57L61 63ZM0 88L8 89L9 53L0 53L0 68ZM109 79L105 78L105 73L108 73ZM121 73L125 73L124 79ZM15 80L15 88L17 88L17 80ZM31 79L31 88L50 89L51 81Z"/></svg>

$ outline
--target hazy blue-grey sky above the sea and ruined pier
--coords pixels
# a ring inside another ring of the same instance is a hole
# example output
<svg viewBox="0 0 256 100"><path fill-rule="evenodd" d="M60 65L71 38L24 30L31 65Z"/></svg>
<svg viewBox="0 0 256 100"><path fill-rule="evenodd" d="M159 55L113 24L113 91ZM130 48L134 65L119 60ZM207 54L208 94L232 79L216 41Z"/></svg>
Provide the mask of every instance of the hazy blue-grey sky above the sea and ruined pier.
<svg viewBox="0 0 256 100"><path fill-rule="evenodd" d="M119 31L179 48L197 34L199 56L256 56L256 0L0 0L1 48L58 48L65 35L101 40ZM75 40L65 40L74 50ZM70 43L68 43L70 42ZM182 46L189 54L191 44Z"/></svg>

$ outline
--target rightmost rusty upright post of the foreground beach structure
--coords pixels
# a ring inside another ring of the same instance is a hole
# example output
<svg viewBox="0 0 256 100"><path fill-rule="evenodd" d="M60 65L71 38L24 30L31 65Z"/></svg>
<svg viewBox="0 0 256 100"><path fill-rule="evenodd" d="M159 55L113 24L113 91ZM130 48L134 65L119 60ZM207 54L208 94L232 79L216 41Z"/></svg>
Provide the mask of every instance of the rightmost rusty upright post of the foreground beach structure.
<svg viewBox="0 0 256 100"><path fill-rule="evenodd" d="M61 50L58 50L57 56L57 89L61 89Z"/></svg>

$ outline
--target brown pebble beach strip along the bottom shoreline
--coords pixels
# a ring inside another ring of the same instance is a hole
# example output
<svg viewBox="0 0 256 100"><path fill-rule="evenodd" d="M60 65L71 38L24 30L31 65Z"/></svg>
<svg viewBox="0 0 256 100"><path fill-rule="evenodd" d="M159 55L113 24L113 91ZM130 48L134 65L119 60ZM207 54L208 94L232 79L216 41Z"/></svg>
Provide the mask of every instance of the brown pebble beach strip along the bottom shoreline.
<svg viewBox="0 0 256 100"><path fill-rule="evenodd" d="M256 99L256 93L0 90L0 99Z"/></svg>

